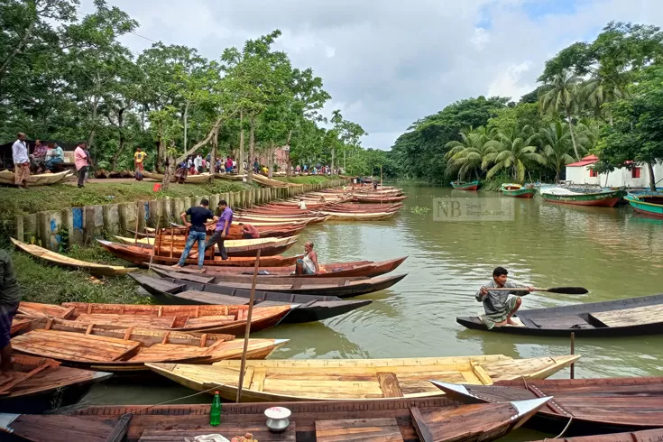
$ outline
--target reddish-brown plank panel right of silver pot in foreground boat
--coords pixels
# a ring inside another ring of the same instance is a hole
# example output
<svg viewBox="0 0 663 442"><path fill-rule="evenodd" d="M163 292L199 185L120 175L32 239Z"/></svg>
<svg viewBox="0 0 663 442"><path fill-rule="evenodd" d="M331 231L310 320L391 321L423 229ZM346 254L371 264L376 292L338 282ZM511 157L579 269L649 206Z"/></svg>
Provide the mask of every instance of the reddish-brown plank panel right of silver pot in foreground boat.
<svg viewBox="0 0 663 442"><path fill-rule="evenodd" d="M394 418L317 420L318 442L342 442L373 440L375 442L400 442L401 428Z"/></svg>

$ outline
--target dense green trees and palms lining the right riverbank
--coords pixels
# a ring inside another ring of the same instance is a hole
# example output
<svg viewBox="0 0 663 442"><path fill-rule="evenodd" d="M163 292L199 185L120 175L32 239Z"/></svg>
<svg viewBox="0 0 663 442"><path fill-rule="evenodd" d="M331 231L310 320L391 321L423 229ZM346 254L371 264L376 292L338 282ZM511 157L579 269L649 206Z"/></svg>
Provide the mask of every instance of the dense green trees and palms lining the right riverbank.
<svg viewBox="0 0 663 442"><path fill-rule="evenodd" d="M413 123L394 143L404 179L552 181L587 153L613 170L663 161L663 32L608 23L546 62L541 85L514 103L476 97ZM660 180L663 177L658 177Z"/></svg>

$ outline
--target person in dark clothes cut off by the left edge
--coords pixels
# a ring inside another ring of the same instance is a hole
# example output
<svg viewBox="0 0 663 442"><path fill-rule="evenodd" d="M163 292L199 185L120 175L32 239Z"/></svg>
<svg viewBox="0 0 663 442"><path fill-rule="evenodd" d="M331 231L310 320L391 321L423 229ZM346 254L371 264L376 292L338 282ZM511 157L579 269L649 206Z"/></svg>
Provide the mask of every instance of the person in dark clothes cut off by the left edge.
<svg viewBox="0 0 663 442"><path fill-rule="evenodd" d="M12 370L12 321L21 302L14 264L6 250L0 249L0 384Z"/></svg>

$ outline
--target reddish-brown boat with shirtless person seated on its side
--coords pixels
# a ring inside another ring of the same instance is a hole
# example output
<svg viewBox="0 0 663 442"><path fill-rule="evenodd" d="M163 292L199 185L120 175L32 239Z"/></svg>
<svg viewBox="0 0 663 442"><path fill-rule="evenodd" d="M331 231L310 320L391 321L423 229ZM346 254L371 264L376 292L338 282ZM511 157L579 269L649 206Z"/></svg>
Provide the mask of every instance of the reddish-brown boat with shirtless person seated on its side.
<svg viewBox="0 0 663 442"><path fill-rule="evenodd" d="M396 258L393 260L387 261L353 261L353 262L327 262L320 264L320 273L319 275L295 275L294 266L286 267L263 267L259 269L259 274L262 275L271 275L273 277L282 277L282 278L306 278L306 279L318 279L318 278L340 278L340 277L357 277L364 276L368 278L373 278L375 276L380 276L385 273L392 272L396 270L402 262L404 262L408 257L403 256L401 258ZM262 263L262 260L261 260ZM164 266L160 264L152 264L151 268L160 269L166 272L172 272L174 269L170 266ZM177 269L178 272L196 272L198 273L198 265L195 266L184 266L181 269ZM253 271L250 269L245 269L243 267L207 267L203 270L203 273L208 275L225 275L225 274L252 274Z"/></svg>

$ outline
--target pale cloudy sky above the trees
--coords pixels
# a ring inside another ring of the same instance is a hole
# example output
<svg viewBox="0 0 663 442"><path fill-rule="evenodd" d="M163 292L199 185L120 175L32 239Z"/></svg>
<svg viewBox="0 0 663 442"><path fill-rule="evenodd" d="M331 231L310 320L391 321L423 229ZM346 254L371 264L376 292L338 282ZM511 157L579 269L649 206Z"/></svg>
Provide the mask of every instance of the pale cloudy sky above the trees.
<svg viewBox="0 0 663 442"><path fill-rule="evenodd" d="M610 21L663 26L663 0L107 0L140 23L135 33L198 48L224 48L274 29L299 68L323 78L332 100L390 149L408 126L465 97L517 100L545 60L589 41ZM83 0L81 12L92 12ZM132 51L152 41L129 34Z"/></svg>

